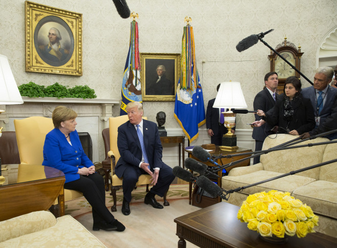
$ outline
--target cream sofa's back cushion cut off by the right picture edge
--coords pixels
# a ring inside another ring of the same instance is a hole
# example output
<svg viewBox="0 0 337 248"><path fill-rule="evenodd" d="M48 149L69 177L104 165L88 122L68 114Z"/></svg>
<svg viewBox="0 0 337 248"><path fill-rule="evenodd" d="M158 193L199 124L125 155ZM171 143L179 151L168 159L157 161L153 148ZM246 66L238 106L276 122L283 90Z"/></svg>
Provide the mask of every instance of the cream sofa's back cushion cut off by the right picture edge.
<svg viewBox="0 0 337 248"><path fill-rule="evenodd" d="M337 143L328 144L323 153L322 162L326 162L332 159L336 159L337 153ZM320 177L319 180L325 180L329 182L337 183L337 162L326 164L320 167Z"/></svg>

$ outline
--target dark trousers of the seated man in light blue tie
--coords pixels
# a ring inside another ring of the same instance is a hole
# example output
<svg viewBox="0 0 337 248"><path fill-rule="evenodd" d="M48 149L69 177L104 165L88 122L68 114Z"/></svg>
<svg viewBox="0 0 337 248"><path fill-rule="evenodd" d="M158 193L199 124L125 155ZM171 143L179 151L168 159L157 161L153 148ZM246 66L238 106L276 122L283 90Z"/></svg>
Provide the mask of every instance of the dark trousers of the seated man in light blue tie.
<svg viewBox="0 0 337 248"><path fill-rule="evenodd" d="M146 173L143 169L140 169L139 167L131 165L123 166L126 167L123 173L123 195L125 200L130 202L132 199L131 192L135 188L138 177L142 174L148 173ZM163 197L174 178L175 176L172 173L172 168L164 164L163 167L159 170L157 183L151 188L150 192L160 197Z"/></svg>

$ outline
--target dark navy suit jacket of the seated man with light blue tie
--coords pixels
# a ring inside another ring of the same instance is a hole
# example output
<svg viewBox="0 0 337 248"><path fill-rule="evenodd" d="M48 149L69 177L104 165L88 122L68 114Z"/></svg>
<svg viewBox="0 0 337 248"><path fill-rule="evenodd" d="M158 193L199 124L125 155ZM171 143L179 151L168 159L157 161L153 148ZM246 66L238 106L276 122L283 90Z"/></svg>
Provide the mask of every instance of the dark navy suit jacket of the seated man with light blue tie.
<svg viewBox="0 0 337 248"><path fill-rule="evenodd" d="M162 168L164 164L161 160L163 148L155 122L143 119L143 139L151 170ZM115 173L120 178L125 170L123 164L139 167L142 158L137 130L130 121L118 127L117 147L120 158L117 161Z"/></svg>

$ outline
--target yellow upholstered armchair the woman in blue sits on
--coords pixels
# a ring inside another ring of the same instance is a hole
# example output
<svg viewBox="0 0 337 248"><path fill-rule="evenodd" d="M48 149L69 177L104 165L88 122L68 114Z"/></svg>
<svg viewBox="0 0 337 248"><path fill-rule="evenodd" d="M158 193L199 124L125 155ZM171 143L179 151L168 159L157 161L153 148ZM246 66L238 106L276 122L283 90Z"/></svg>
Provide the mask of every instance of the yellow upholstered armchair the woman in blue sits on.
<svg viewBox="0 0 337 248"><path fill-rule="evenodd" d="M42 116L32 116L21 120L15 119L14 126L21 163L41 165L44 160L43 149L46 135L54 129L52 119ZM65 201L82 196L83 194L78 191L65 190ZM57 204L56 199L50 209L56 216L59 215Z"/></svg>

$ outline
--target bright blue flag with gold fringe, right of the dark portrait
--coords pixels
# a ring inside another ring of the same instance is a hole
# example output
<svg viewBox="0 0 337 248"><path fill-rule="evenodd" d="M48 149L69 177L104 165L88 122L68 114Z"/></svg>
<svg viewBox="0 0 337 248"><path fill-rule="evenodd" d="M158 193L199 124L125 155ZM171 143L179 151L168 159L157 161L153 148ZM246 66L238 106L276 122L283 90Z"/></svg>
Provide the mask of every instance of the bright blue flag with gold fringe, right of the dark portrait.
<svg viewBox="0 0 337 248"><path fill-rule="evenodd" d="M198 128L206 122L193 28L188 24L184 27L182 36L181 75L177 86L174 117L190 142L198 138Z"/></svg>

